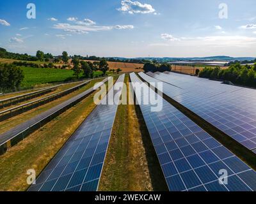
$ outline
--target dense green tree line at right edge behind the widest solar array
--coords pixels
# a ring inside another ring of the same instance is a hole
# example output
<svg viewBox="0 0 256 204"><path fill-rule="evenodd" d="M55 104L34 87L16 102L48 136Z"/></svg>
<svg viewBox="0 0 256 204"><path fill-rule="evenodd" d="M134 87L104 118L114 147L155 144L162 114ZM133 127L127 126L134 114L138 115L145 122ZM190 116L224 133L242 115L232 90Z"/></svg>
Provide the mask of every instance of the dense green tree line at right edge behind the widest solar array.
<svg viewBox="0 0 256 204"><path fill-rule="evenodd" d="M204 68L199 77L227 80L234 84L256 87L256 63L253 66L242 66L240 63L232 64L228 69Z"/></svg>

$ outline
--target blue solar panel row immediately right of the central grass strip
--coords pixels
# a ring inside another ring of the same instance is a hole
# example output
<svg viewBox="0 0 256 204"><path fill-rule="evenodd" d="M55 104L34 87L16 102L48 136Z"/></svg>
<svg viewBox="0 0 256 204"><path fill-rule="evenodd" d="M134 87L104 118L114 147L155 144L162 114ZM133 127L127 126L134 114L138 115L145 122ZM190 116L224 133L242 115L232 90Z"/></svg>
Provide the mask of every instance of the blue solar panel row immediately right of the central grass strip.
<svg viewBox="0 0 256 204"><path fill-rule="evenodd" d="M130 78L142 83L134 73ZM148 92L142 93L142 101L143 94ZM256 190L254 170L166 100L158 99L163 100L160 112L143 103L140 108L170 191ZM219 183L220 170L227 170L225 185Z"/></svg>

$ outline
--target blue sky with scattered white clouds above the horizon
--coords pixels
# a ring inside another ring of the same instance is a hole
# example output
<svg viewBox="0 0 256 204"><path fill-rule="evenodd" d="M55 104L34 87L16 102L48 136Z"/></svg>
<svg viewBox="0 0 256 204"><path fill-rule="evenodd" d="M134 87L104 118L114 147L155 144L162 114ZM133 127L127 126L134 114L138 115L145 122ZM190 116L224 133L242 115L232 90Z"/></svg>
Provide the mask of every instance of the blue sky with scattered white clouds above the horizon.
<svg viewBox="0 0 256 204"><path fill-rule="evenodd" d="M35 19L26 16L28 3ZM255 0L0 1L0 47L12 52L256 57L255 45Z"/></svg>

